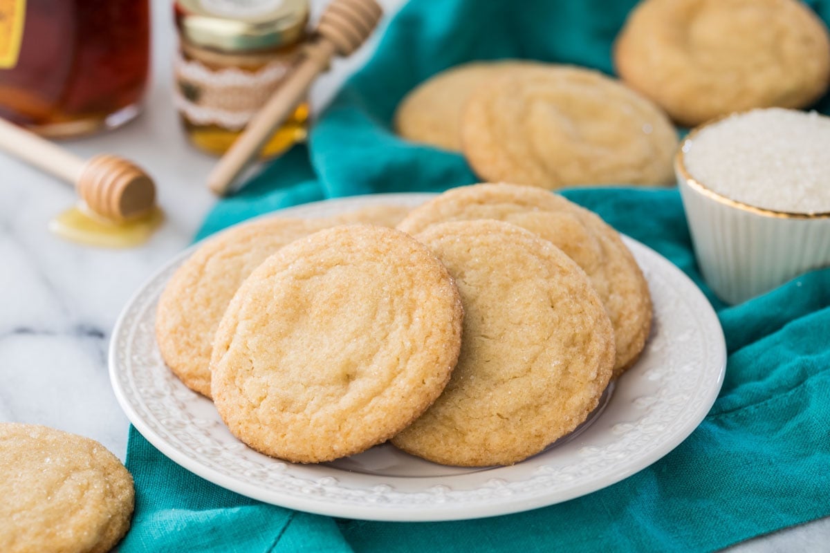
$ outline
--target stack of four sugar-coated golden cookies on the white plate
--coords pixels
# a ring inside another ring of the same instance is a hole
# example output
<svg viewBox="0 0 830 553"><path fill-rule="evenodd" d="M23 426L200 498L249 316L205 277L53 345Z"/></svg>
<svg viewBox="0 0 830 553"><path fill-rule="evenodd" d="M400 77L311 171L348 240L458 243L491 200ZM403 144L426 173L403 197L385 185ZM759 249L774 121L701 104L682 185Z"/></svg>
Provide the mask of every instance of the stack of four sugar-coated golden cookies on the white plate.
<svg viewBox="0 0 830 553"><path fill-rule="evenodd" d="M388 228L401 216L272 217L207 240L160 300L165 361L274 457L391 440L491 466L573 431L642 351L646 281L593 213L482 184Z"/></svg>

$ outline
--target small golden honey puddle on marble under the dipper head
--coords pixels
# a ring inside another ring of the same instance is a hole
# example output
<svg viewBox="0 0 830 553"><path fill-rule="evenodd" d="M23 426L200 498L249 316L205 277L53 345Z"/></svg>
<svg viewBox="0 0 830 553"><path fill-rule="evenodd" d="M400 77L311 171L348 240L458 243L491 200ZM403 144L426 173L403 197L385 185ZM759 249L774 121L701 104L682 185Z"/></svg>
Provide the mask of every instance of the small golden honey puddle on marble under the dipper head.
<svg viewBox="0 0 830 553"><path fill-rule="evenodd" d="M84 203L64 211L49 222L49 230L65 240L101 248L132 248L144 244L164 221L154 207L148 216L115 223L92 213Z"/></svg>

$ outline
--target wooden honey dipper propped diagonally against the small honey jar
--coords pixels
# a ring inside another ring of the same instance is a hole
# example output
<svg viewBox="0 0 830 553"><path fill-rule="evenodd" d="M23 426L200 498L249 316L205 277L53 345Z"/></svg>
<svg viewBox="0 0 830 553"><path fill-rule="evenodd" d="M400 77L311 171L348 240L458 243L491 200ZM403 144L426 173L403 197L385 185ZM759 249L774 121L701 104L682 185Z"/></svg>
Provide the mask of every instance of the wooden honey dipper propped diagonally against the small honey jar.
<svg viewBox="0 0 830 553"><path fill-rule="evenodd" d="M383 9L374 0L334 0L325 8L315 32L303 48L300 62L207 177L207 185L213 192L224 196L231 190L237 177L274 131L305 99L315 77L329 68L335 54L349 56L357 50L382 15Z"/></svg>

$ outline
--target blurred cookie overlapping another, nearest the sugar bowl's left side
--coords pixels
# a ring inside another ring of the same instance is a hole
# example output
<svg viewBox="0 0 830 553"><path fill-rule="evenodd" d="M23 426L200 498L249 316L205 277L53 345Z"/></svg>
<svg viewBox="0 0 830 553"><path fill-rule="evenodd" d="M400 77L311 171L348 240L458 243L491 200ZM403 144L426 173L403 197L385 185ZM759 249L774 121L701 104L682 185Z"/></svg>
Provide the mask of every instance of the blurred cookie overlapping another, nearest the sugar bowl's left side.
<svg viewBox="0 0 830 553"><path fill-rule="evenodd" d="M556 189L669 184L677 136L648 99L593 70L532 65L470 96L461 143L484 180Z"/></svg>

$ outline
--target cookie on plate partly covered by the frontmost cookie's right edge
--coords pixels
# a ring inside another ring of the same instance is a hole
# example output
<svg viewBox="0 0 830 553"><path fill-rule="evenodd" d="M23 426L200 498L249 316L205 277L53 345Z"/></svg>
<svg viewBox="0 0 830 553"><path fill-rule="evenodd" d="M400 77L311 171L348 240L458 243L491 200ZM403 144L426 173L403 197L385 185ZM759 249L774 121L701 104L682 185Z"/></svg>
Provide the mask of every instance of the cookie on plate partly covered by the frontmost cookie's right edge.
<svg viewBox="0 0 830 553"><path fill-rule="evenodd" d="M517 463L569 434L611 377L611 323L567 255L502 221L428 228L464 304L461 356L444 393L392 442L442 464Z"/></svg>

